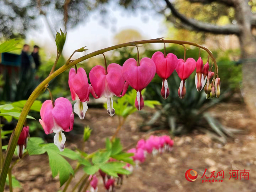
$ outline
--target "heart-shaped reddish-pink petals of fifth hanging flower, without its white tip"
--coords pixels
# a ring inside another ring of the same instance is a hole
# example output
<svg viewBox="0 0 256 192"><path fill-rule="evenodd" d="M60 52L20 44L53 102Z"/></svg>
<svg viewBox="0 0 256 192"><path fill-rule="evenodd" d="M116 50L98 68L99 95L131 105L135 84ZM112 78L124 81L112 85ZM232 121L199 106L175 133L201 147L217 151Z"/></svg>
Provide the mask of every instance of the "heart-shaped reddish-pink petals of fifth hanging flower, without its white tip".
<svg viewBox="0 0 256 192"><path fill-rule="evenodd" d="M156 64L156 73L162 79L167 79L177 66L178 59L176 55L169 53L166 58L162 52L155 52L152 60Z"/></svg>

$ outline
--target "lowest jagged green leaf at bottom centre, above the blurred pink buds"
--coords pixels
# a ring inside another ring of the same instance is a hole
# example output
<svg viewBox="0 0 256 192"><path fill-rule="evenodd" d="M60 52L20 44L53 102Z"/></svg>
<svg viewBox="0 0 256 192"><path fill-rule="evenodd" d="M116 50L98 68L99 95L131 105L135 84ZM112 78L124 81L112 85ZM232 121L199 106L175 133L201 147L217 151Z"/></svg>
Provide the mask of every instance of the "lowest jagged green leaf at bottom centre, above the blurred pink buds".
<svg viewBox="0 0 256 192"><path fill-rule="evenodd" d="M123 168L125 165L126 165L125 163L113 161L106 164L100 164L100 169L103 172L106 172L108 175L117 177L117 173L124 174L124 175L131 173L128 170Z"/></svg>

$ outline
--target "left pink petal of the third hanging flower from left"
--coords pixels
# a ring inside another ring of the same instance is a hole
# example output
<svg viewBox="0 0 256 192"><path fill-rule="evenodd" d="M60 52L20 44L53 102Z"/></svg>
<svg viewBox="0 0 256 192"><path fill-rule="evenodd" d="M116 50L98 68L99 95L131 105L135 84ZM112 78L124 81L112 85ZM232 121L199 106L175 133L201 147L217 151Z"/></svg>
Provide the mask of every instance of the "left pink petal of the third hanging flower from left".
<svg viewBox="0 0 256 192"><path fill-rule="evenodd" d="M94 98L100 98L103 95L103 92L105 91L106 86L106 71L105 68L97 65L92 68L92 70L89 73L89 78L91 81L91 85L93 88L93 91L97 95L97 97Z"/></svg>

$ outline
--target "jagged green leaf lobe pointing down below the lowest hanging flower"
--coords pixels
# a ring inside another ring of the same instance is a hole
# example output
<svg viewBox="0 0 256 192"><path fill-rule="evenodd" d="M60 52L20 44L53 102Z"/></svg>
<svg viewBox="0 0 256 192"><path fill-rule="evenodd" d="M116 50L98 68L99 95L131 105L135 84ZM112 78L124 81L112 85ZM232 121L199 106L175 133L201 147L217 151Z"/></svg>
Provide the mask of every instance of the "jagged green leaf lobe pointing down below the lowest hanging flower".
<svg viewBox="0 0 256 192"><path fill-rule="evenodd" d="M66 159L52 150L48 150L49 164L52 170L52 177L59 174L60 187L68 180L70 175L74 175L74 170Z"/></svg>

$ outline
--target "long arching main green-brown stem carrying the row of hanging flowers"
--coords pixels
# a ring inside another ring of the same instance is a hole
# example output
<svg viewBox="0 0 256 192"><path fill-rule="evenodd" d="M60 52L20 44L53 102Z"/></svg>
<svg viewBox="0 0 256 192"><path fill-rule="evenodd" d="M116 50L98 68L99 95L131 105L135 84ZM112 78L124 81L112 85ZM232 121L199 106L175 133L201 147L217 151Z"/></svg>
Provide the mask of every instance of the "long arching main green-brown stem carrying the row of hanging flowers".
<svg viewBox="0 0 256 192"><path fill-rule="evenodd" d="M198 45L196 43L191 43L191 42L187 42L187 41L178 41L178 40L164 40L164 41L165 41L165 43L188 44L188 45L192 45L192 46L196 46L196 47L200 47L201 49L204 49L211 56L211 58L214 62L214 65L217 68L216 60L214 59L214 57L212 55L212 52L210 52L210 50L208 50L207 48L205 48L201 45ZM148 44L148 43L163 43L163 40L161 40L161 39L150 39L150 40L143 40L143 41L134 41L134 42L115 45L115 46L112 46L112 47L108 47L108 48L105 48L105 49L101 49L101 50L89 53L87 55L84 55L83 57L80 57L80 58L72 61L72 62L69 62L67 65L63 65L58 70L54 71L51 75L49 75L46 79L44 79L44 81L36 87L36 89L32 92L32 94L28 98L28 100L27 100L27 102L26 102L26 104L25 104L25 106L24 106L24 108L23 108L23 110L20 114L20 118L19 118L19 121L16 125L15 131L14 131L14 133L12 134L12 136L10 138L9 146L8 146L8 149L7 149L7 155L6 155L6 158L5 158L5 161L4 161L4 167L3 167L3 170L2 170L1 176L0 176L0 192L4 191L4 185L5 185L8 169L9 169L9 166L11 164L12 156L13 156L13 153L15 151L15 148L16 148L19 136L20 136L20 132L22 130L22 126L23 126L23 124L25 122L25 119L28 115L29 109L31 108L31 106L34 103L34 101L36 100L36 98L45 90L45 87L48 85L48 83L53 78L55 78L56 76L60 75L64 71L66 71L68 68L71 68L72 66L76 65L77 63L80 63L80 62L82 62L84 60L87 60L91 57L94 57L94 56L99 55L101 53L108 52L108 51L111 51L111 50L115 50L115 49L118 49L118 48L133 46L134 44Z"/></svg>

